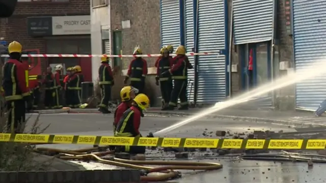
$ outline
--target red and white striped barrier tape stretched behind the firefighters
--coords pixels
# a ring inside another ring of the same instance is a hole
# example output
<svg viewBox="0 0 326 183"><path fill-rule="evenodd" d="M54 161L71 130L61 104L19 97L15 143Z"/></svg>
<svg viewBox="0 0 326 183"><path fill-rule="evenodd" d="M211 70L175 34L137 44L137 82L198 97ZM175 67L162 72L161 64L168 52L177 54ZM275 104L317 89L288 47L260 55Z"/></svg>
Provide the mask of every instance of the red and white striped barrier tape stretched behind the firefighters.
<svg viewBox="0 0 326 183"><path fill-rule="evenodd" d="M209 52L202 52L202 53L186 53L187 56L194 56L194 55L219 55L220 53L209 53ZM176 56L176 54L170 54L171 56ZM1 55L2 57L9 57L9 55ZM22 57L158 57L161 54L142 54L142 55L108 55L108 54L23 54Z"/></svg>

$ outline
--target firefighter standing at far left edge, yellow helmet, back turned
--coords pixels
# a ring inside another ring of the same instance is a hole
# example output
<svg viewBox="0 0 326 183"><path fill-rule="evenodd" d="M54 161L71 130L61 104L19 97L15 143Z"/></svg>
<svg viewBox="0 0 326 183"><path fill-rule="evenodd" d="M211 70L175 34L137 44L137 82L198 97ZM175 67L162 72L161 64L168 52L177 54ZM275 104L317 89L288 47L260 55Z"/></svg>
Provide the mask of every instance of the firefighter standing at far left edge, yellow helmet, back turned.
<svg viewBox="0 0 326 183"><path fill-rule="evenodd" d="M2 87L9 112L8 133L22 133L21 126L25 123L25 112L32 109L32 100L25 77L26 68L20 62L21 52L21 44L17 41L11 42L8 46L9 59L3 68Z"/></svg>

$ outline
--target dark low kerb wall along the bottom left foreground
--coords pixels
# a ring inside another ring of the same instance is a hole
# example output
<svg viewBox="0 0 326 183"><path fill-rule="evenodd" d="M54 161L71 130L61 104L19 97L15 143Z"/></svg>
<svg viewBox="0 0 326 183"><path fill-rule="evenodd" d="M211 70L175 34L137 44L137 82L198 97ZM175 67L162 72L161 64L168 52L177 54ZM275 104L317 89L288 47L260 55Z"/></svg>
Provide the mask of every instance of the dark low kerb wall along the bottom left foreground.
<svg viewBox="0 0 326 183"><path fill-rule="evenodd" d="M0 172L0 182L6 183L114 183L140 179L141 172L134 169Z"/></svg>

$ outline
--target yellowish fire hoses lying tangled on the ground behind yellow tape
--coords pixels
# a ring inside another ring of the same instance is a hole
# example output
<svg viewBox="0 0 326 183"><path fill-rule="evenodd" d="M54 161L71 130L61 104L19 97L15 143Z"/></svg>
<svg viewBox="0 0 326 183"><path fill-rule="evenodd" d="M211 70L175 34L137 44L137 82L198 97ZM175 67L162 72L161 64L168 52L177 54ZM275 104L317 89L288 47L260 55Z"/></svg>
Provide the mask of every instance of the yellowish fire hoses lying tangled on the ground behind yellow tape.
<svg viewBox="0 0 326 183"><path fill-rule="evenodd" d="M187 161L137 161L114 158L113 160L102 159L106 155L113 155L114 150L100 151L91 153L91 151L99 150L101 147L63 150L56 148L36 148L37 153L45 153L55 156L63 160L85 160L96 161L103 164L114 165L118 167L132 168L142 170L144 176L141 176L142 181L164 181L180 177L180 172L175 170L217 170L223 167L219 163L208 162L187 162ZM103 147L102 147L103 148ZM104 147L105 148L105 147ZM161 167L149 167L144 165L162 165ZM146 176L148 173L160 172L161 175Z"/></svg>

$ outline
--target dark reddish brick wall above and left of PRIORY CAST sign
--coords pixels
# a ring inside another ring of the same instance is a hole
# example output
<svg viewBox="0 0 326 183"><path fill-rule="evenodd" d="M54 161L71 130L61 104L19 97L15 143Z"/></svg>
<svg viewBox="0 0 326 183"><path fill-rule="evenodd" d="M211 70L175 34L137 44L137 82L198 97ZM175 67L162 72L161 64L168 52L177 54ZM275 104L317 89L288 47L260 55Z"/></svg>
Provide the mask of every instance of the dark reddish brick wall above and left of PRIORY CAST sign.
<svg viewBox="0 0 326 183"><path fill-rule="evenodd" d="M19 2L12 17L1 19L0 34L6 41L19 41L23 49L45 52L42 38L27 34L27 18L32 16L89 15L89 0L70 0L69 3Z"/></svg>

